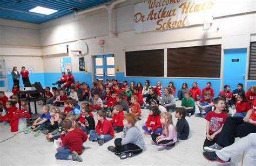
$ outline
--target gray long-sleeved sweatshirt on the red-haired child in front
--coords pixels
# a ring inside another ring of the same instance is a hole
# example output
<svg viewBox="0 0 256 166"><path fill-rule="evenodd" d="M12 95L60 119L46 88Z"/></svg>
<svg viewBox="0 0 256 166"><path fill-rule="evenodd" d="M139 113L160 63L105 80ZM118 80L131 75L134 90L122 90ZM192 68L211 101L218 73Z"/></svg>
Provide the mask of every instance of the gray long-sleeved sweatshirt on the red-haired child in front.
<svg viewBox="0 0 256 166"><path fill-rule="evenodd" d="M124 127L124 132L122 134L122 145L126 145L128 143L133 143L140 147L140 149L143 149L145 146L145 142L142 136L142 133L140 133L137 126L132 126L130 128Z"/></svg>

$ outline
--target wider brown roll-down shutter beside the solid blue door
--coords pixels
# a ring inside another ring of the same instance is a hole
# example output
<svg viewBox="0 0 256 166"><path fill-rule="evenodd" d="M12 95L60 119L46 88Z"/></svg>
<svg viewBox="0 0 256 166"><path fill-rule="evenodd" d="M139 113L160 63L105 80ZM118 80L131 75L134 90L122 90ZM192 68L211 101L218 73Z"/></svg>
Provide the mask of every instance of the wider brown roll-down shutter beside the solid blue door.
<svg viewBox="0 0 256 166"><path fill-rule="evenodd" d="M221 45L167 49L168 77L220 77Z"/></svg>

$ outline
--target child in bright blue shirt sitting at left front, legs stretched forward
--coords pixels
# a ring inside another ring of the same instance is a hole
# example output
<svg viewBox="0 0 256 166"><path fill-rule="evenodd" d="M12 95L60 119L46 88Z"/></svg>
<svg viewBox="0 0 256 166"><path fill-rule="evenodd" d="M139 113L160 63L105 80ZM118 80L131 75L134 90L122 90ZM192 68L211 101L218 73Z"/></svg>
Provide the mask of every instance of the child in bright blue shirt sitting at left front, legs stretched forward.
<svg viewBox="0 0 256 166"><path fill-rule="evenodd" d="M43 129L50 126L51 115L49 111L50 107L48 105L44 105L41 110L42 115L33 122L30 128L26 129L25 134L36 131L38 129L35 136L41 135L43 133ZM37 126L39 127L37 128Z"/></svg>

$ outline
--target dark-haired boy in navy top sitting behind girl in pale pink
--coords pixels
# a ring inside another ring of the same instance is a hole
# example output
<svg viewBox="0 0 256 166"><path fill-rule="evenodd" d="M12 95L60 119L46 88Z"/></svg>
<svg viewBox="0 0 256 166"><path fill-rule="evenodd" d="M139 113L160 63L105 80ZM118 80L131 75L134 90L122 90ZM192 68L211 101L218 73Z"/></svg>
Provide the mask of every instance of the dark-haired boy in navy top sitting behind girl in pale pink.
<svg viewBox="0 0 256 166"><path fill-rule="evenodd" d="M177 137L180 140L186 140L190 134L190 125L188 125L186 118L187 111L182 107L176 107L175 118L178 118L176 124Z"/></svg>

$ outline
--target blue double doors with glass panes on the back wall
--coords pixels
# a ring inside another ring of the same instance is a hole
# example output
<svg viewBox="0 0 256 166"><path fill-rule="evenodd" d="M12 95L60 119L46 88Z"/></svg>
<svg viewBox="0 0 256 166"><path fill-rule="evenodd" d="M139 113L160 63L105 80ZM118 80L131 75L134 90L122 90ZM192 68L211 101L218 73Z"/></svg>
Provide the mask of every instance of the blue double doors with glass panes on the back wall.
<svg viewBox="0 0 256 166"><path fill-rule="evenodd" d="M95 80L106 82L115 78L114 55L96 55L93 57Z"/></svg>

